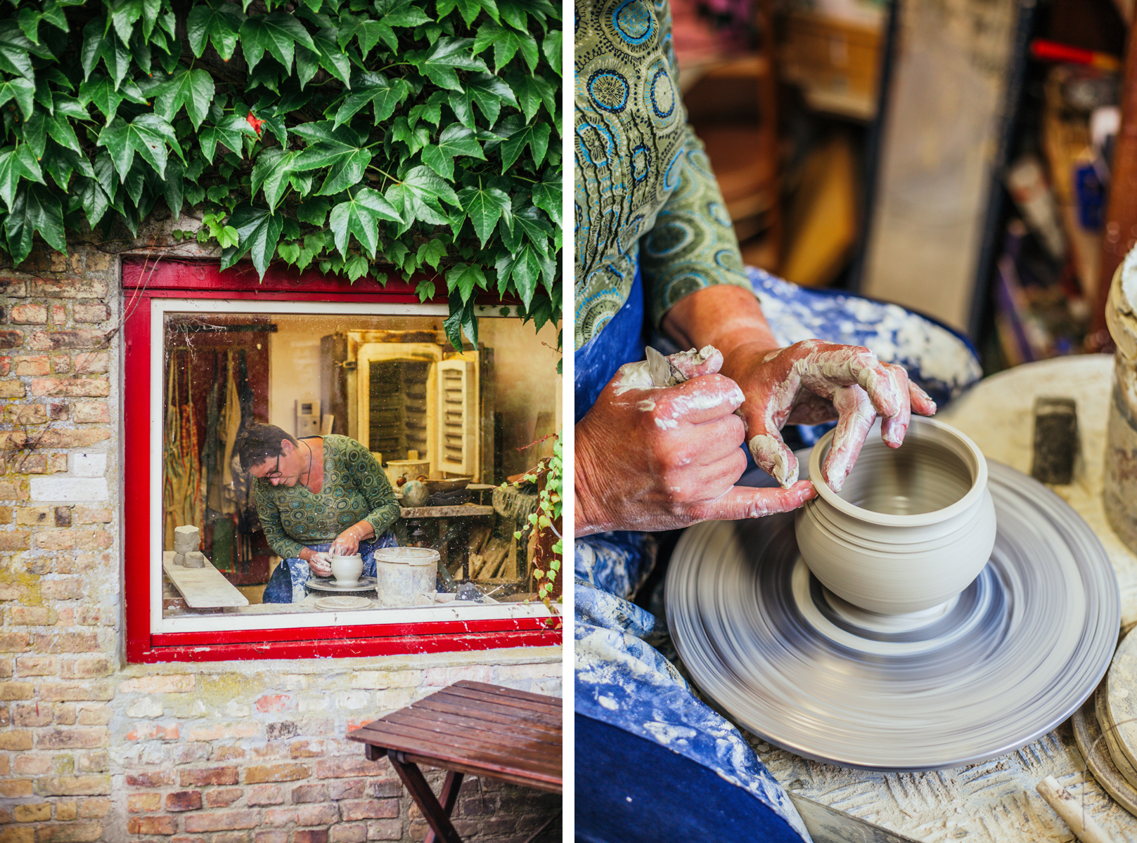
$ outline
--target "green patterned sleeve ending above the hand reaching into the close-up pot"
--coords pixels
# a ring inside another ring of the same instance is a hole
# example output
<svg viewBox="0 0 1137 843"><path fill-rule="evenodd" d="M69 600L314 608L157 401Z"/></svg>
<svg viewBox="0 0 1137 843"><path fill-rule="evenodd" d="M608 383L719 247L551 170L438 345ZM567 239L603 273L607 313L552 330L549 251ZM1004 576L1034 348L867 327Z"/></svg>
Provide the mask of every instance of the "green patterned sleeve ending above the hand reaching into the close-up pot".
<svg viewBox="0 0 1137 843"><path fill-rule="evenodd" d="M703 143L687 126L679 184L640 240L640 269L656 325L684 295L715 284L754 292Z"/></svg>

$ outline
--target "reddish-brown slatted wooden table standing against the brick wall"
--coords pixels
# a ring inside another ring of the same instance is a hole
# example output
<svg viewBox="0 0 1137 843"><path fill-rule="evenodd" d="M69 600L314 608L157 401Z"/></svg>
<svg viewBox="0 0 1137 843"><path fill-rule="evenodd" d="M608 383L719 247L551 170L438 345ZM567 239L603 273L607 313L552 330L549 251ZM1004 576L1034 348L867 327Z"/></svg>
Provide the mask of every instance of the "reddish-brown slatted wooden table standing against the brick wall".
<svg viewBox="0 0 1137 843"><path fill-rule="evenodd" d="M559 698L465 681L347 735L370 760L390 759L430 824L426 843L462 843L450 813L467 773L562 793L561 736ZM420 763L447 770L440 798Z"/></svg>

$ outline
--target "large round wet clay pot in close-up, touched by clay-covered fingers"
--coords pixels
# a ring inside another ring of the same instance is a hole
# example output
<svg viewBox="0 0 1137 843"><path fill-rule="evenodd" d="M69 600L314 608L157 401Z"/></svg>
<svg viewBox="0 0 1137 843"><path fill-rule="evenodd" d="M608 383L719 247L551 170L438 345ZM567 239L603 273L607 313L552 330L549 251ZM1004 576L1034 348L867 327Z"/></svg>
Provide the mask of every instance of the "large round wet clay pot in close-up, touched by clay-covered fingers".
<svg viewBox="0 0 1137 843"><path fill-rule="evenodd" d="M810 454L818 498L799 511L797 544L813 575L872 612L938 607L968 587L995 546L987 461L976 443L940 422L912 418L897 449L873 425L844 489L821 465L830 431Z"/></svg>

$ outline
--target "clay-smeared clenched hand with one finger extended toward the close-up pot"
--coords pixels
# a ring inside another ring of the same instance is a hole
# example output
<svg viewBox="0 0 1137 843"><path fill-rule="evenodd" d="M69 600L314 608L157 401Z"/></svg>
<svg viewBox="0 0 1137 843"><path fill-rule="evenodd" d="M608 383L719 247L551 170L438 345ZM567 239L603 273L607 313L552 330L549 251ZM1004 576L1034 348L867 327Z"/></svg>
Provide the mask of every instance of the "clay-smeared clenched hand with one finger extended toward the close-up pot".
<svg viewBox="0 0 1137 843"><path fill-rule="evenodd" d="M796 509L816 495L735 486L746 469L738 384L706 347L672 354L689 378L655 386L647 364L629 364L575 428L575 532L671 529L707 519L756 518Z"/></svg>

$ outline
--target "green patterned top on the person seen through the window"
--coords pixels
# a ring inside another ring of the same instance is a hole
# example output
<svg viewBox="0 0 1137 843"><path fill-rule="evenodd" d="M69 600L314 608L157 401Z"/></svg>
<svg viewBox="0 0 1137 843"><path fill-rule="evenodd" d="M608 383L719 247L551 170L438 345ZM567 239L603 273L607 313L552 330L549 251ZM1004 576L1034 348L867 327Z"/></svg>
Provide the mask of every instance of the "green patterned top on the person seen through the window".
<svg viewBox="0 0 1137 843"><path fill-rule="evenodd" d="M268 546L281 559L291 559L309 544L326 544L366 520L381 535L398 520L387 473L371 451L348 436L324 436L324 486L317 494L307 486L256 484L257 515Z"/></svg>

